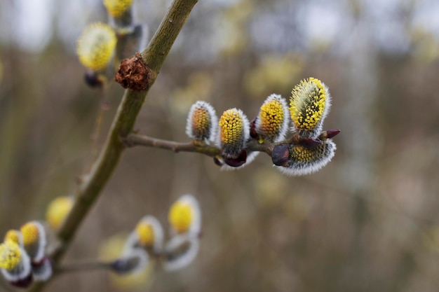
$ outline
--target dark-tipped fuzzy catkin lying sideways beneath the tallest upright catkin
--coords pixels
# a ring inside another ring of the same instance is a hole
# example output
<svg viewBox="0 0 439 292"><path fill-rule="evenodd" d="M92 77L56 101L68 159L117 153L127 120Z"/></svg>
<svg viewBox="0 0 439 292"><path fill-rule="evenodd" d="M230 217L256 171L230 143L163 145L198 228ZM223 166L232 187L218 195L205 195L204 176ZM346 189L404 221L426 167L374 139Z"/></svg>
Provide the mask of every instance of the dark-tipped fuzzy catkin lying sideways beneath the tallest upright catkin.
<svg viewBox="0 0 439 292"><path fill-rule="evenodd" d="M300 176L317 172L335 155L332 140L327 139L315 147L303 145L279 145L273 149L272 160L284 174Z"/></svg>

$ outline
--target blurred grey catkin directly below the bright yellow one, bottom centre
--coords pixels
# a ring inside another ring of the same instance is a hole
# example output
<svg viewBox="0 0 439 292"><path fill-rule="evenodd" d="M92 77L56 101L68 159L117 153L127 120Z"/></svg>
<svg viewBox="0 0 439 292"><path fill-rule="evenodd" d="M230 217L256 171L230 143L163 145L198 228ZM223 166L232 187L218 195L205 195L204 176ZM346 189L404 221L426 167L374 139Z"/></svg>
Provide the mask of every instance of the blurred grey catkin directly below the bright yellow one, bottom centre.
<svg viewBox="0 0 439 292"><path fill-rule="evenodd" d="M175 235L165 246L163 269L166 271L179 270L191 263L200 249L196 235Z"/></svg>

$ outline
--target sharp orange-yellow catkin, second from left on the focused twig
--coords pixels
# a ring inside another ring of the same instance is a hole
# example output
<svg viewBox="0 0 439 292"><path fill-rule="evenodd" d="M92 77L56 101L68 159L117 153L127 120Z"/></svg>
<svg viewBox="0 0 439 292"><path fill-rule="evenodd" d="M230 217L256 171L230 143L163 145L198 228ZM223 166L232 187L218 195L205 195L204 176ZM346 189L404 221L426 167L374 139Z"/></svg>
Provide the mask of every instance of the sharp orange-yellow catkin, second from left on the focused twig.
<svg viewBox="0 0 439 292"><path fill-rule="evenodd" d="M250 123L240 109L229 109L219 118L218 146L224 155L234 158L238 156L250 137Z"/></svg>

